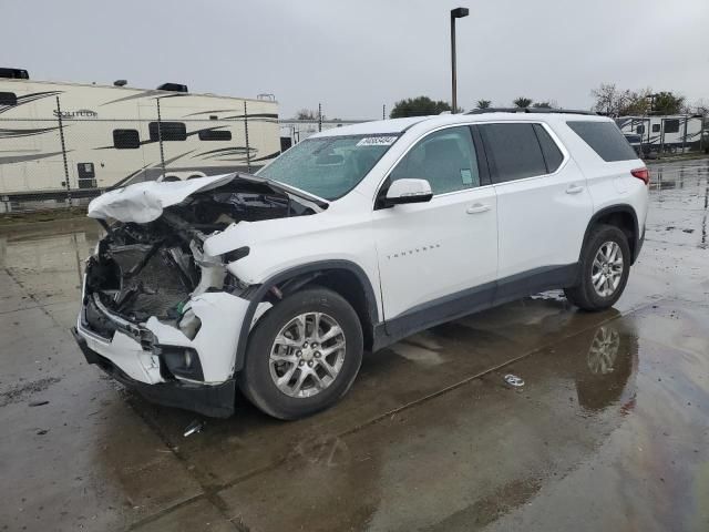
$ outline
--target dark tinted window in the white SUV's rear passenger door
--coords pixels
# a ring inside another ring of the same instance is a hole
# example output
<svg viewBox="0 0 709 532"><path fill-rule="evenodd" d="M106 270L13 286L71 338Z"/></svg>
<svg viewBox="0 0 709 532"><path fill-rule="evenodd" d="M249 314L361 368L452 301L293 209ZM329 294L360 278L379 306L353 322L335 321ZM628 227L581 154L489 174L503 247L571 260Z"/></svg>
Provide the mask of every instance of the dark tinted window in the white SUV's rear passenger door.
<svg viewBox="0 0 709 532"><path fill-rule="evenodd" d="M496 168L495 183L547 173L533 124L482 124L480 131Z"/></svg>

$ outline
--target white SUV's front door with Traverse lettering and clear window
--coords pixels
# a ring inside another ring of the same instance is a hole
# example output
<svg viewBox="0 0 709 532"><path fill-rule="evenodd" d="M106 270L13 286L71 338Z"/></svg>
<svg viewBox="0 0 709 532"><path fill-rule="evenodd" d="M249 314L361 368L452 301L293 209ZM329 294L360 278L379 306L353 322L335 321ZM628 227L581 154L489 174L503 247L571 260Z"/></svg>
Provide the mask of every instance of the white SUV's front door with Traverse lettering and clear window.
<svg viewBox="0 0 709 532"><path fill-rule="evenodd" d="M424 178L433 192L427 203L373 212L390 335L405 336L492 303L497 202L484 160L479 164L482 147L473 134L477 137L467 125L428 134L399 161L380 191L386 194L399 178Z"/></svg>

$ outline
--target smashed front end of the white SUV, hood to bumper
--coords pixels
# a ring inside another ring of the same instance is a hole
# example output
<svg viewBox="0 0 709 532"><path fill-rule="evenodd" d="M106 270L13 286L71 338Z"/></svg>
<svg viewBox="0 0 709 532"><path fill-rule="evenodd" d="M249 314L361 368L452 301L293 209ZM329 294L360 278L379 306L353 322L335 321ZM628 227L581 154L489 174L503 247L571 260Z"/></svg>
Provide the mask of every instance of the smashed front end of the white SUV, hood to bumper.
<svg viewBox="0 0 709 532"><path fill-rule="evenodd" d="M318 208L263 180L227 177L133 185L94 201L89 215L106 236L86 263L74 331L91 364L148 399L217 417L234 409L251 304L227 265L249 249L209 256L204 243L232 224Z"/></svg>

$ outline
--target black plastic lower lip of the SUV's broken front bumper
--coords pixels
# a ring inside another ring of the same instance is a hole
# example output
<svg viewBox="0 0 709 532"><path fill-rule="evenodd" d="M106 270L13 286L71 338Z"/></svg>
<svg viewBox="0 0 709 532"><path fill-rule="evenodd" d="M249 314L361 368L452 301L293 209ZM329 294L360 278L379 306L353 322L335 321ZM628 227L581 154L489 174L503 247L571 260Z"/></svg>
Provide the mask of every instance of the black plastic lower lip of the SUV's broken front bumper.
<svg viewBox="0 0 709 532"><path fill-rule="evenodd" d="M95 364L111 377L129 388L136 390L151 402L166 407L182 408L213 418L228 418L234 413L236 383L229 379L223 383L209 386L172 380L150 385L129 377L107 358L91 349L76 328L72 328L74 339L89 364Z"/></svg>

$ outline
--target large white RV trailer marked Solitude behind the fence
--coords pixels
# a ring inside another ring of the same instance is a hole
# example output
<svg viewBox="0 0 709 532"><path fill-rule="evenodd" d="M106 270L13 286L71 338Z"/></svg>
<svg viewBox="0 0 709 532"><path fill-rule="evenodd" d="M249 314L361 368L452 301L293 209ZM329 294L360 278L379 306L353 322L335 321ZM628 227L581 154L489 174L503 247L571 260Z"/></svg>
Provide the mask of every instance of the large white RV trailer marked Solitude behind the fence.
<svg viewBox="0 0 709 532"><path fill-rule="evenodd" d="M0 79L2 196L255 171L279 153L275 101Z"/></svg>

